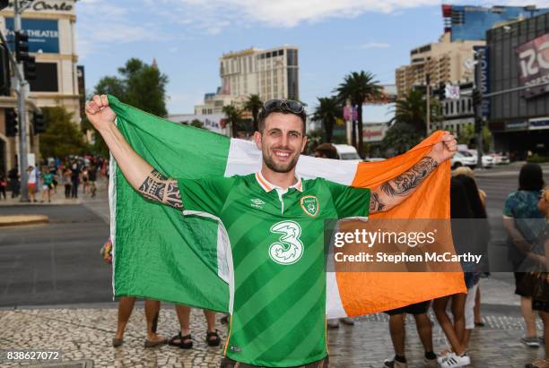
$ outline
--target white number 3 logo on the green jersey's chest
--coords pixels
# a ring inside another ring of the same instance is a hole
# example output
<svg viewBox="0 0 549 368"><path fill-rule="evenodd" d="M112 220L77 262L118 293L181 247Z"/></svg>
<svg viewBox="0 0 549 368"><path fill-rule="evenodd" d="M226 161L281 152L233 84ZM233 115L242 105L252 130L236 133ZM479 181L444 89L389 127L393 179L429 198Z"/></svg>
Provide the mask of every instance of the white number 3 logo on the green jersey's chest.
<svg viewBox="0 0 549 368"><path fill-rule="evenodd" d="M300 261L303 255L301 243L301 227L295 221L280 221L271 227L271 233L282 234L278 240L269 246L269 256L279 264L293 264Z"/></svg>

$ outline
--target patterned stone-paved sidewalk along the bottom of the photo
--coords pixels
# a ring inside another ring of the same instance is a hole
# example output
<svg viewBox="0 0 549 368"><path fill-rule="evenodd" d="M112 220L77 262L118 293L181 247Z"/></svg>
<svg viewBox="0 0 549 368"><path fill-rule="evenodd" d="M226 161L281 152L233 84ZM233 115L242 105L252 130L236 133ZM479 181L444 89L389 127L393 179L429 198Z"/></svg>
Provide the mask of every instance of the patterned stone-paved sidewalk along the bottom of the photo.
<svg viewBox="0 0 549 368"><path fill-rule="evenodd" d="M178 323L171 306L161 311L159 333L170 337L177 333ZM516 313L514 313L516 314ZM205 320L200 311L193 311L191 328L195 348L175 347L144 349L143 304L136 304L122 347L111 347L116 329L116 304L100 308L60 308L0 311L0 351L13 349L57 349L64 361L91 359L95 367L217 367L222 347L205 344ZM332 367L381 367L392 354L387 316L375 314L360 318L354 326L329 329L328 341ZM522 336L518 315L484 313L487 326L473 332L470 355L472 367L523 367L543 349L533 349L518 342ZM218 326L223 343L226 326ZM407 358L410 367L423 367L423 351L415 332L414 321L407 323ZM445 348L437 324L433 329L435 351ZM24 366L25 364L21 364ZM26 364L29 365L29 364ZM2 367L20 366L0 362Z"/></svg>

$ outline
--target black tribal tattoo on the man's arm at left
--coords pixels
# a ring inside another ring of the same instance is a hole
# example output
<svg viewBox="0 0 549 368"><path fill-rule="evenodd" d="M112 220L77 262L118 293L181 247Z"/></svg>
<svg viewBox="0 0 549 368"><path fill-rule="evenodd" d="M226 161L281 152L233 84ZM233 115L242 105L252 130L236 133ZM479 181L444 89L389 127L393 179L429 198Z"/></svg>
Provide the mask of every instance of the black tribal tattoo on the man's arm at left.
<svg viewBox="0 0 549 368"><path fill-rule="evenodd" d="M151 201L160 201L176 209L183 207L178 182L167 178L156 169L146 177L139 192Z"/></svg>

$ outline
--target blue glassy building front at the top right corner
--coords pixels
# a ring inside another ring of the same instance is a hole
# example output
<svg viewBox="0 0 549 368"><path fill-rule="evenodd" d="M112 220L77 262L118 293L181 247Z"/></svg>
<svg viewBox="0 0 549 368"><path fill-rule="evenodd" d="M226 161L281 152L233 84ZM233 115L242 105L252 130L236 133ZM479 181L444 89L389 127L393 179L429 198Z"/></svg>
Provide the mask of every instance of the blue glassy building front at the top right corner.
<svg viewBox="0 0 549 368"><path fill-rule="evenodd" d="M444 31L453 41L485 40L486 31L506 21L518 21L549 12L548 8L529 6L442 5Z"/></svg>

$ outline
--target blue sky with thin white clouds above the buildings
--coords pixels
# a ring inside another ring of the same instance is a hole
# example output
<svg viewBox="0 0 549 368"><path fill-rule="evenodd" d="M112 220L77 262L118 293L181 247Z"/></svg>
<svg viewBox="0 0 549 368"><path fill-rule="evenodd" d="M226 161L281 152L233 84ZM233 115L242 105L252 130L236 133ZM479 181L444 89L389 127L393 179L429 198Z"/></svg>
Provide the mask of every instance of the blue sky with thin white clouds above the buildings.
<svg viewBox="0 0 549 368"><path fill-rule="evenodd" d="M248 47L300 47L300 98L309 108L351 72L395 83L410 50L443 32L433 0L80 0L78 64L86 90L137 57L156 59L169 78L169 114L192 114L221 85L219 57ZM448 3L447 3L448 4ZM457 1L451 4L549 6L549 0Z"/></svg>

